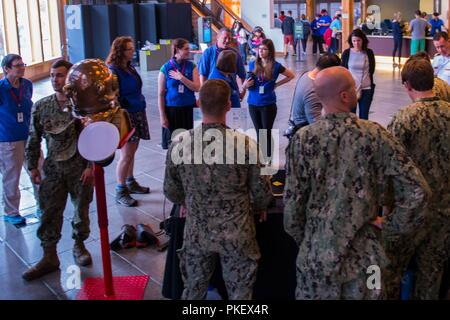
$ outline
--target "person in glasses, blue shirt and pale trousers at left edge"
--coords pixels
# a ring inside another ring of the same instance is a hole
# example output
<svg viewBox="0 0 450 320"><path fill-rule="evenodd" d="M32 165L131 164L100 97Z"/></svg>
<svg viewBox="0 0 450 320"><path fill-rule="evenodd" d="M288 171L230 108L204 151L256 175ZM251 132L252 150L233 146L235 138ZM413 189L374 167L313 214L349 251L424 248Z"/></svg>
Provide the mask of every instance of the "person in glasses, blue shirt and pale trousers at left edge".
<svg viewBox="0 0 450 320"><path fill-rule="evenodd" d="M4 78L0 80L0 173L3 184L4 220L25 223L20 215L19 179L28 139L33 85L24 78L22 57L8 54L2 60Z"/></svg>

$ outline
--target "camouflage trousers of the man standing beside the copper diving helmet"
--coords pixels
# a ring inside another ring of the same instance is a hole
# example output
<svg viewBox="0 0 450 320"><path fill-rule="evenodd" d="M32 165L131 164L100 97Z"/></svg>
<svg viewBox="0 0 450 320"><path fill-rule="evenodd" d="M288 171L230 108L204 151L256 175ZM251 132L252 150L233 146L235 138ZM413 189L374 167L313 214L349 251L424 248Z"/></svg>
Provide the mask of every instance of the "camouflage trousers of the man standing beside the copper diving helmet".
<svg viewBox="0 0 450 320"><path fill-rule="evenodd" d="M43 247L55 245L61 239L68 194L74 206L72 238L84 241L89 237L89 204L93 187L80 181L86 165L86 160L78 154L66 161L45 159L44 178L39 187L39 205L43 215L37 231Z"/></svg>

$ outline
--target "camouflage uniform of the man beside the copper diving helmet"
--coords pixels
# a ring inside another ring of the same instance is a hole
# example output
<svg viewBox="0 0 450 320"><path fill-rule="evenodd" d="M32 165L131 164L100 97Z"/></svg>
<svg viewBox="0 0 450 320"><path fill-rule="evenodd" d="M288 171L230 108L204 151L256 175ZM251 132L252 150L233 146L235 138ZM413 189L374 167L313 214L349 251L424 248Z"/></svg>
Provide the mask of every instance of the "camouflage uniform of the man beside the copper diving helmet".
<svg viewBox="0 0 450 320"><path fill-rule="evenodd" d="M84 241L89 237L89 204L93 187L80 181L89 166L77 150L79 120L61 110L56 95L36 102L30 137L26 146L28 169L37 168L42 137L47 142L44 176L39 188L39 203L43 211L38 237L43 247L56 245L61 238L63 213L67 195L74 205L72 238Z"/></svg>

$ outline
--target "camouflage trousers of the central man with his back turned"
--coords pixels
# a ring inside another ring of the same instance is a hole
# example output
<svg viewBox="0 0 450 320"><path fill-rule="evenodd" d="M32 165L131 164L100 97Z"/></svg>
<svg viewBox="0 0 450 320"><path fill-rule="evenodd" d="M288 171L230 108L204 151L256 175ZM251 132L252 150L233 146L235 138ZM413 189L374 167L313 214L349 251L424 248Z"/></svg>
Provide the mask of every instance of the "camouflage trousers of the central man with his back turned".
<svg viewBox="0 0 450 320"><path fill-rule="evenodd" d="M237 252L218 254L189 250L186 246L178 251L181 275L184 281L183 300L206 298L209 280L215 269L217 255L222 264L223 279L230 300L251 300L256 280L258 261Z"/></svg>

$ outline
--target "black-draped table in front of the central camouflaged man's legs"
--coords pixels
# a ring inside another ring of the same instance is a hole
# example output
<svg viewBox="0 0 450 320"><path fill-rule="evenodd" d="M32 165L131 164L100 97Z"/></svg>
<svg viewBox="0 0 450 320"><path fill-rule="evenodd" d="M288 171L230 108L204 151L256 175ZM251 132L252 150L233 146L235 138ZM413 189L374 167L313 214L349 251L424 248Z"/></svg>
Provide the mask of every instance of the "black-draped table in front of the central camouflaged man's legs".
<svg viewBox="0 0 450 320"><path fill-rule="evenodd" d="M178 206L174 206L171 215L177 216ZM179 270L176 250L183 245L184 218L173 219L170 227L171 240L167 251L162 294L169 299L180 299L183 281ZM269 212L267 221L260 223L255 216L256 238L261 251L258 273L254 285L254 300L293 300L295 299L296 265L298 247L284 231L283 203L278 198ZM218 289L226 299L225 284L220 263L211 279L211 285Z"/></svg>

